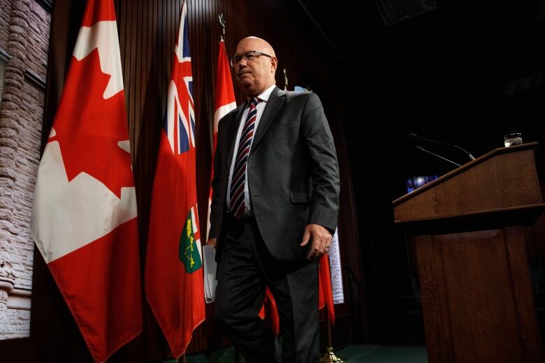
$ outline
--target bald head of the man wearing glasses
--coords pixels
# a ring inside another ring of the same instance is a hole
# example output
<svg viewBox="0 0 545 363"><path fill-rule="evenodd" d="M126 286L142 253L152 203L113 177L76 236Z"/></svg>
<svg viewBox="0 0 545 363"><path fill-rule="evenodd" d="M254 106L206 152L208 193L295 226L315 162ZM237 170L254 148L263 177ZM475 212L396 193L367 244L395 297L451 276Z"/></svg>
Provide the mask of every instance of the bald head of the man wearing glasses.
<svg viewBox="0 0 545 363"><path fill-rule="evenodd" d="M234 66L235 80L247 97L258 96L276 83L275 50L266 40L256 36L240 40L233 58L240 59Z"/></svg>

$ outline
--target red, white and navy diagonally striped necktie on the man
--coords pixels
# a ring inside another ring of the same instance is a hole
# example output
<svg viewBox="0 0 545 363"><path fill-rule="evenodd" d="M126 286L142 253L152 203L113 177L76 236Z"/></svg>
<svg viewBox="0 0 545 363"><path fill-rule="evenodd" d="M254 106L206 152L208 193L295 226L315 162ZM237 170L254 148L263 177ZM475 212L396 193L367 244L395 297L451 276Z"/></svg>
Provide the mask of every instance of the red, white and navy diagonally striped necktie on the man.
<svg viewBox="0 0 545 363"><path fill-rule="evenodd" d="M235 218L239 219L246 209L244 201L244 189L246 184L246 165L250 147L252 146L252 138L254 138L254 128L257 116L257 104L261 101L254 97L249 104L248 117L242 128L240 142L238 143L237 158L235 159L235 167L233 168L233 178L231 179L231 200L229 206L231 213Z"/></svg>

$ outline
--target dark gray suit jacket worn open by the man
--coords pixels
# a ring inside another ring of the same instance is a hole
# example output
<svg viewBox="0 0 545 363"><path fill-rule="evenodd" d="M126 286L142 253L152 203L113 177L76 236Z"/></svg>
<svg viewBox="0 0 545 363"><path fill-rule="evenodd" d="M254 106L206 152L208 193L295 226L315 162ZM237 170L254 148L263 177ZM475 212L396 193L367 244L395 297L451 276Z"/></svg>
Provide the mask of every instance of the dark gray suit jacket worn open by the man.
<svg viewBox="0 0 545 363"><path fill-rule="evenodd" d="M229 169L245 105L226 114L218 126L210 212L210 238L218 238L218 259ZM299 246L305 225L334 231L339 211L337 154L318 96L276 87L247 163L250 203L269 252L279 260L306 258L307 249Z"/></svg>

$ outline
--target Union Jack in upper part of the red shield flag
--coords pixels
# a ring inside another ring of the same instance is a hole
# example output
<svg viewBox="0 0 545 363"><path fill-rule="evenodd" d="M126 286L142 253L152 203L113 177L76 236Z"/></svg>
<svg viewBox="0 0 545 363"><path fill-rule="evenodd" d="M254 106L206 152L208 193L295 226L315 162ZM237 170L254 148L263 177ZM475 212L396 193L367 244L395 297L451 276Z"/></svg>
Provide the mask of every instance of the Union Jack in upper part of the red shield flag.
<svg viewBox="0 0 545 363"><path fill-rule="evenodd" d="M193 103L193 76L187 38L187 7L182 8L180 31L175 45L172 74L168 84L163 129L173 154L183 154L195 147L195 110Z"/></svg>

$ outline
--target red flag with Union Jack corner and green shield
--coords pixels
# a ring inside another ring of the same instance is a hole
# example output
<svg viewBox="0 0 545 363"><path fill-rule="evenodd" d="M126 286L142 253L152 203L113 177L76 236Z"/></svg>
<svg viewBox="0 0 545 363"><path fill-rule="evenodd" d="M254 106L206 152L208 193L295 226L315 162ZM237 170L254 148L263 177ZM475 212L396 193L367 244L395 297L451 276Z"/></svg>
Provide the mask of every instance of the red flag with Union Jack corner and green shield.
<svg viewBox="0 0 545 363"><path fill-rule="evenodd" d="M193 330L205 320L187 29L184 2L157 158L145 265L147 301L175 358L185 352Z"/></svg>

